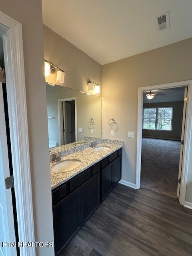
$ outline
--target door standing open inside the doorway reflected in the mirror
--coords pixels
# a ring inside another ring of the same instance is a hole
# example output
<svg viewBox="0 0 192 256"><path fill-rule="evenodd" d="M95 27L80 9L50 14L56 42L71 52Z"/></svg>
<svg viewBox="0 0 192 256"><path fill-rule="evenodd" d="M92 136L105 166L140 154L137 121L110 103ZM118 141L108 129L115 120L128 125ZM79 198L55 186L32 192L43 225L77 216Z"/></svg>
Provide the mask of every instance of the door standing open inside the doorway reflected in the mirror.
<svg viewBox="0 0 192 256"><path fill-rule="evenodd" d="M72 142L71 130L71 104L64 102L64 142L65 144Z"/></svg>

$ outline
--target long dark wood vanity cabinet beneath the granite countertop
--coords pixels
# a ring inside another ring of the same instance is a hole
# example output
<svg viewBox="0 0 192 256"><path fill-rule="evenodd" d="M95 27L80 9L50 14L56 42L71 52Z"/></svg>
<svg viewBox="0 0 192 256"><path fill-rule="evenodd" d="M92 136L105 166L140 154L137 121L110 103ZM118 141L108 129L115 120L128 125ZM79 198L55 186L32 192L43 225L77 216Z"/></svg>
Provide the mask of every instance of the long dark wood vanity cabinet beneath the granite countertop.
<svg viewBox="0 0 192 256"><path fill-rule="evenodd" d="M122 149L52 191L55 255L121 179Z"/></svg>

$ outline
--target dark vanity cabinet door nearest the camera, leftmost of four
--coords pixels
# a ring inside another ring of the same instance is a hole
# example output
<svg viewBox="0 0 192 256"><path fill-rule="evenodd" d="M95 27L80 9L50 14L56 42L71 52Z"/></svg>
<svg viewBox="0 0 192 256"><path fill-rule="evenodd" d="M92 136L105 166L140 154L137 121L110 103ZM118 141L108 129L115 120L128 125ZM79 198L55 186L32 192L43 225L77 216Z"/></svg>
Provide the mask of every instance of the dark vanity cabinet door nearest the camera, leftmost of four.
<svg viewBox="0 0 192 256"><path fill-rule="evenodd" d="M78 188L53 208L55 255L81 226L81 189Z"/></svg>

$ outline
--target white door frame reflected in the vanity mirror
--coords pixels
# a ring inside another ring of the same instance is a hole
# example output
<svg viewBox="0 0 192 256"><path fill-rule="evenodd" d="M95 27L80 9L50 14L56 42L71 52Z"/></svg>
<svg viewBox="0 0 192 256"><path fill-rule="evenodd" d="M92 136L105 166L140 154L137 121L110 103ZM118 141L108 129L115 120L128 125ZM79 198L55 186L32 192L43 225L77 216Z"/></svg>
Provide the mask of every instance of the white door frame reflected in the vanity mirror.
<svg viewBox="0 0 192 256"><path fill-rule="evenodd" d="M71 101L71 100L75 101L75 141L77 142L77 97L58 99L59 146L62 146L61 142L62 142L62 136L63 136L63 132L62 132L63 125L61 123L61 120L62 120L61 104L62 102Z"/></svg>

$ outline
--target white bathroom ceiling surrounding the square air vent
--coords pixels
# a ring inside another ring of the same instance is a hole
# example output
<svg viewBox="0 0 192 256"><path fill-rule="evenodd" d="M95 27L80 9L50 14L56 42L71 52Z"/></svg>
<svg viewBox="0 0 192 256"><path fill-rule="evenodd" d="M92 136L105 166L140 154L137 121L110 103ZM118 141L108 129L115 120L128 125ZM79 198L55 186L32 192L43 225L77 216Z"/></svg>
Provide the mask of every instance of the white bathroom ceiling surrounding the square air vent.
<svg viewBox="0 0 192 256"><path fill-rule="evenodd" d="M43 22L100 64L192 37L192 0L42 0ZM154 17L170 11L170 29Z"/></svg>

